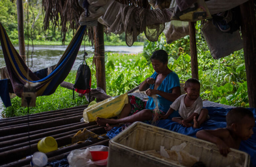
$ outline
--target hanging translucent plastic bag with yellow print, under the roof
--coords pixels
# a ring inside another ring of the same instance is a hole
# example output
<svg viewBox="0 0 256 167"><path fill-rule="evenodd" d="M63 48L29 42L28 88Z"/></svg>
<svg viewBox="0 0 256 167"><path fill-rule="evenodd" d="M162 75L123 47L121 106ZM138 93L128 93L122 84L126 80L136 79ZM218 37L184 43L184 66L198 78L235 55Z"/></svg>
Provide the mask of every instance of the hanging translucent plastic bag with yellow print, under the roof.
<svg viewBox="0 0 256 167"><path fill-rule="evenodd" d="M176 6L171 20L197 21L209 18L211 18L211 15L204 0L197 0L192 6L182 11Z"/></svg>

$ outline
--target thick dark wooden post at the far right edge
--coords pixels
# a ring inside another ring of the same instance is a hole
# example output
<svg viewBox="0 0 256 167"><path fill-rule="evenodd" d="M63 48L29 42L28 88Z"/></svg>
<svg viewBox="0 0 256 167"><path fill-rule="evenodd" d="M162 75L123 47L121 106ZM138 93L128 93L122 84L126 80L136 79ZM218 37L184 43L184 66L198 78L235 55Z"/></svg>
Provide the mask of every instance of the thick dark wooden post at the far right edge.
<svg viewBox="0 0 256 167"><path fill-rule="evenodd" d="M240 5L249 106L256 108L256 18L253 0Z"/></svg>

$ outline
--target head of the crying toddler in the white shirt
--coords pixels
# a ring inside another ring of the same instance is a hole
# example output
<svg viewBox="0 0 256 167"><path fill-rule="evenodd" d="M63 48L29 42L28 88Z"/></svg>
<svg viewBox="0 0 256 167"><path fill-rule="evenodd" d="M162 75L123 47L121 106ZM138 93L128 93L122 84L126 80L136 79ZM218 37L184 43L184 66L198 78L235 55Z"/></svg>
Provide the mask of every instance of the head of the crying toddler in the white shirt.
<svg viewBox="0 0 256 167"><path fill-rule="evenodd" d="M196 78L189 78L185 82L184 91L189 99L197 99L200 96L200 82Z"/></svg>

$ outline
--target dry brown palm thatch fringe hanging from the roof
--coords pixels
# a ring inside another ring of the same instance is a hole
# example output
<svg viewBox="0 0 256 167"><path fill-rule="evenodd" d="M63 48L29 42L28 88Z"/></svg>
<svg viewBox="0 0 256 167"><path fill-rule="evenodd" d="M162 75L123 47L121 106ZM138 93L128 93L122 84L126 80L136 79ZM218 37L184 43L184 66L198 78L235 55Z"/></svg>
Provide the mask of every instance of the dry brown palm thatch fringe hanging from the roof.
<svg viewBox="0 0 256 167"><path fill-rule="evenodd" d="M150 9L148 0L117 0L122 4ZM118 9L117 9L118 10ZM62 42L64 43L66 33L78 28L79 17L84 9L79 5L78 0L42 0L42 11L44 13L44 30L61 27ZM59 20L61 22L59 23ZM50 24L52 23L52 24ZM52 27L50 27L52 25ZM107 33L107 27L105 27ZM93 27L89 27L85 32L89 42L93 45Z"/></svg>

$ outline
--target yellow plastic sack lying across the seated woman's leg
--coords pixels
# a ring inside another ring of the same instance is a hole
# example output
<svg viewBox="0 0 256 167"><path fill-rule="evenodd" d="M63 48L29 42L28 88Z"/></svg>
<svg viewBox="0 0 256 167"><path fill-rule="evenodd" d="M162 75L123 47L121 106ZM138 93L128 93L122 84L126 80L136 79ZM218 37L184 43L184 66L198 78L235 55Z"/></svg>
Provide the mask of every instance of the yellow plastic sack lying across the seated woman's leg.
<svg viewBox="0 0 256 167"><path fill-rule="evenodd" d="M123 106L128 103L128 95L123 94L116 98L108 98L92 105L83 112L84 122L95 121L97 117L110 118L120 114Z"/></svg>

